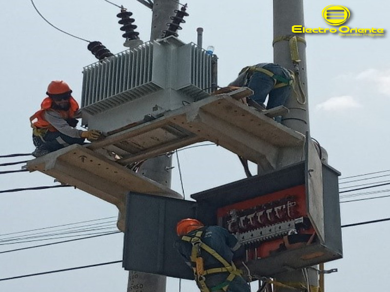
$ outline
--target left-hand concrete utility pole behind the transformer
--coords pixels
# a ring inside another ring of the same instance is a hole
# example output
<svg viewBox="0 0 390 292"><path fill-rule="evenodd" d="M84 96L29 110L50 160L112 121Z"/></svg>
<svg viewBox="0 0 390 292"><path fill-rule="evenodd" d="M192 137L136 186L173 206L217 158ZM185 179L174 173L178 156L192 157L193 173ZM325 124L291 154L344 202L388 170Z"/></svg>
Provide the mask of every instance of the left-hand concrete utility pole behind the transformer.
<svg viewBox="0 0 390 292"><path fill-rule="evenodd" d="M167 23L171 20L169 17L175 15L175 9L178 9L176 1L154 0L151 40L161 37L162 31L168 29ZM162 155L148 159L139 173L157 183L171 187L171 166L172 155ZM166 282L166 276L129 271L127 292L165 292Z"/></svg>

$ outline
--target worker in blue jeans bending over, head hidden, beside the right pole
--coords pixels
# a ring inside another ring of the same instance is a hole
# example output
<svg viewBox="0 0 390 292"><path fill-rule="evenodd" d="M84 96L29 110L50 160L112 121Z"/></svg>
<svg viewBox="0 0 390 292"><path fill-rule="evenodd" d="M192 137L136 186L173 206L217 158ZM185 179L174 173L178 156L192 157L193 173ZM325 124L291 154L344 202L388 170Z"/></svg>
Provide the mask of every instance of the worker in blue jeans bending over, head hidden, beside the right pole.
<svg viewBox="0 0 390 292"><path fill-rule="evenodd" d="M274 63L260 63L241 70L238 77L229 86L248 87L254 91L249 98L266 108L264 103L268 95L267 110L283 106L292 94L293 73ZM251 102L248 102L251 105ZM281 122L281 116L275 121Z"/></svg>

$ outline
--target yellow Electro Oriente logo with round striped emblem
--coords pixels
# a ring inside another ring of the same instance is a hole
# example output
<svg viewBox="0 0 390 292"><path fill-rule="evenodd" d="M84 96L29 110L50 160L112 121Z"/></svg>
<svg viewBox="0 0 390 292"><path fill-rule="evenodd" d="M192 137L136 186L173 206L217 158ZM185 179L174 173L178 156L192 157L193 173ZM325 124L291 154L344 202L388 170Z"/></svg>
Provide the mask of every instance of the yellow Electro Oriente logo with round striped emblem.
<svg viewBox="0 0 390 292"><path fill-rule="evenodd" d="M332 26L339 26L345 23L351 16L351 11L342 5L329 5L322 10L322 18L326 23ZM307 28L302 25L293 25L293 33L304 33L304 34L335 34L338 33L342 37L384 37L384 28L351 28L343 25L338 28Z"/></svg>

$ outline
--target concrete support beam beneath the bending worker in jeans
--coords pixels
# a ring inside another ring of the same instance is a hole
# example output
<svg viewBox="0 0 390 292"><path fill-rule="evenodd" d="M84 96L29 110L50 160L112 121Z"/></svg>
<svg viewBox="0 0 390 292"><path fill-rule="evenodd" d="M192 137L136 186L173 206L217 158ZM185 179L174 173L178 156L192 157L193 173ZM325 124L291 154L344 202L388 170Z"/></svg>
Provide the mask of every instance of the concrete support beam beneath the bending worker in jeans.
<svg viewBox="0 0 390 292"><path fill-rule="evenodd" d="M303 147L304 136L227 94L209 96L165 117L264 169L277 168L281 149Z"/></svg>

